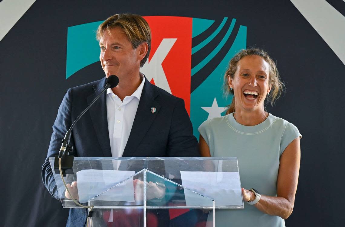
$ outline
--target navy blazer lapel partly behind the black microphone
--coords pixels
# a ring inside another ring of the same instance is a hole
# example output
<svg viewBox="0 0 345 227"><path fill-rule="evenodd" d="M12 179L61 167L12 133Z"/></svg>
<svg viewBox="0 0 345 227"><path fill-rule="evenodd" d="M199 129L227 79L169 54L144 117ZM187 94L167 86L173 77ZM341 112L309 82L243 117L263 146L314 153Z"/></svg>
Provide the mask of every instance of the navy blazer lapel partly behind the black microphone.
<svg viewBox="0 0 345 227"><path fill-rule="evenodd" d="M93 85L95 93L87 97L87 102L90 104L93 99L102 91L105 87L106 79L103 78ZM98 100L89 109L93 128L95 129L96 136L103 152L103 156L111 157L110 141L109 141L109 130L108 130L108 119L107 119L107 103L106 93L103 93ZM100 156L102 156L100 154Z"/></svg>

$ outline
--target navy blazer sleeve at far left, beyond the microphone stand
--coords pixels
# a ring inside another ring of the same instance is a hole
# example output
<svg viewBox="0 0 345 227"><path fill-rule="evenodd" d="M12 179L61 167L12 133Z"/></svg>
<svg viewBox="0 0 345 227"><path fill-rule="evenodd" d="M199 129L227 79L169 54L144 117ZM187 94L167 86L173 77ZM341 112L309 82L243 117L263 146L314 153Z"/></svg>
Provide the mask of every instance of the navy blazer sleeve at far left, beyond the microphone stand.
<svg viewBox="0 0 345 227"><path fill-rule="evenodd" d="M50 194L57 199L62 197L58 192L58 185L55 182L53 170L51 169L49 158L54 157L59 153L61 141L65 136L67 130L71 126L71 103L72 103L72 88L68 89L65 97L58 110L58 115L53 125L53 133L51 135L48 154L45 163L42 165L42 180ZM70 140L70 145L74 145L73 140ZM61 185L63 186L63 185ZM62 193L62 192L60 192Z"/></svg>

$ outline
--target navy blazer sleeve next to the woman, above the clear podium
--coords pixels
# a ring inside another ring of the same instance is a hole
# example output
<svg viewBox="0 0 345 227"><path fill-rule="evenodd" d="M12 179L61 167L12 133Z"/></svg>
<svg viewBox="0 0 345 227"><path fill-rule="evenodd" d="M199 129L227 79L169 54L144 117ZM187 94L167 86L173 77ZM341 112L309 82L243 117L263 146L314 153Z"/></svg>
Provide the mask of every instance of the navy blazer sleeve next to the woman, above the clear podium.
<svg viewBox="0 0 345 227"><path fill-rule="evenodd" d="M193 127L183 99L176 102L172 113L167 154L171 157L197 157L198 141L193 135Z"/></svg>

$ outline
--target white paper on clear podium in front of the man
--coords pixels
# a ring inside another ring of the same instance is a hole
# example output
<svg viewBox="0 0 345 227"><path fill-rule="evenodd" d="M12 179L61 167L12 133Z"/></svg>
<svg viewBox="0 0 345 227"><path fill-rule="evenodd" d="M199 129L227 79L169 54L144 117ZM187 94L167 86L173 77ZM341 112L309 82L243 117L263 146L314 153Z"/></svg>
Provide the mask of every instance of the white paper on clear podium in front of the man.
<svg viewBox="0 0 345 227"><path fill-rule="evenodd" d="M77 172L79 202L88 202L89 199L134 174L134 171L120 170L81 170ZM134 202L133 177L103 193L97 197L97 200Z"/></svg>

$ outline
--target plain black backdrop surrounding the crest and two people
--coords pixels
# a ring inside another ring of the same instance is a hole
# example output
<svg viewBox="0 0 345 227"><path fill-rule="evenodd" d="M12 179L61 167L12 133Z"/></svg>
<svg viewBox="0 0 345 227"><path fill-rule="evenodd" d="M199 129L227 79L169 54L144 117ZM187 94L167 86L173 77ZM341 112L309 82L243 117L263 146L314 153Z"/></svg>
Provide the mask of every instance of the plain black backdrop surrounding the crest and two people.
<svg viewBox="0 0 345 227"><path fill-rule="evenodd" d="M345 2L328 2L345 15ZM0 42L2 226L65 225L68 209L41 180L51 126L69 87L104 76L95 63L66 80L67 28L121 12L229 17L246 25L247 46L276 59L287 87L267 111L293 122L303 136L295 207L286 225L345 223L345 66L290 1L36 1Z"/></svg>

